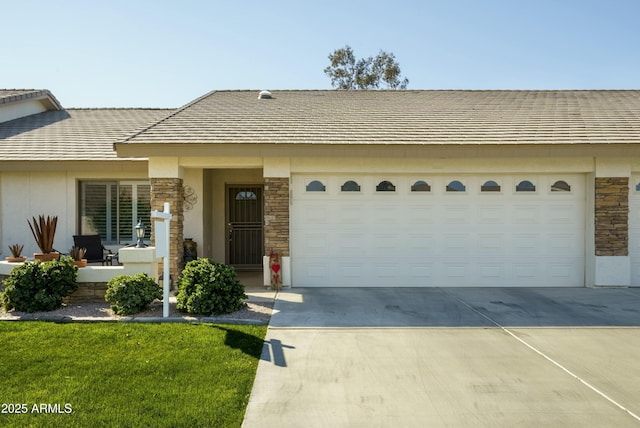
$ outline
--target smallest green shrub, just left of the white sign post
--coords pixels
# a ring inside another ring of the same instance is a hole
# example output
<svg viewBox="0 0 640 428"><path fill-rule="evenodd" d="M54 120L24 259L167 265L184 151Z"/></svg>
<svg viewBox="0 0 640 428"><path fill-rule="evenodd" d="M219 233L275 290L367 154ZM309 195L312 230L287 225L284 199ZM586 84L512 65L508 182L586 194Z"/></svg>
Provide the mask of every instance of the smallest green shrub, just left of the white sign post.
<svg viewBox="0 0 640 428"><path fill-rule="evenodd" d="M104 298L118 315L131 315L144 310L162 297L162 288L146 273L118 275L107 283Z"/></svg>

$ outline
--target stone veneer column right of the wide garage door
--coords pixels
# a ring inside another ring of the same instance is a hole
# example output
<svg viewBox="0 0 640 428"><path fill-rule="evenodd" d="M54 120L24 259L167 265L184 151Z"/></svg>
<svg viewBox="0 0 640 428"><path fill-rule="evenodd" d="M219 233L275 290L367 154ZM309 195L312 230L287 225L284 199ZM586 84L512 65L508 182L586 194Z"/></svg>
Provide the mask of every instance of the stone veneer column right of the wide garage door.
<svg viewBox="0 0 640 428"><path fill-rule="evenodd" d="M595 178L595 255L629 255L629 178Z"/></svg>

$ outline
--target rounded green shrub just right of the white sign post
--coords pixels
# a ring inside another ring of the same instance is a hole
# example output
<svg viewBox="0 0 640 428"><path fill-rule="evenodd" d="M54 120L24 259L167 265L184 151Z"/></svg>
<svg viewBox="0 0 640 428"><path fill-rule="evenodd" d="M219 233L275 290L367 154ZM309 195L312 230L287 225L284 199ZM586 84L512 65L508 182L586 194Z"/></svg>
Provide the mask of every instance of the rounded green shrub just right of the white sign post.
<svg viewBox="0 0 640 428"><path fill-rule="evenodd" d="M190 314L220 315L242 309L246 298L233 267L200 258L182 271L176 308Z"/></svg>

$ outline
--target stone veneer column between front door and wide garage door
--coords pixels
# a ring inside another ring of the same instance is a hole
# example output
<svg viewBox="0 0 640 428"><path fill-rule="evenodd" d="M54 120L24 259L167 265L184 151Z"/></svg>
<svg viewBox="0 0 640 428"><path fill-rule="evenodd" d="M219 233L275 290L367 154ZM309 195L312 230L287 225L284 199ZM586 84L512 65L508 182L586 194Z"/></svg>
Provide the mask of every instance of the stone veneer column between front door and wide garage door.
<svg viewBox="0 0 640 428"><path fill-rule="evenodd" d="M289 177L264 179L264 250L289 256Z"/></svg>

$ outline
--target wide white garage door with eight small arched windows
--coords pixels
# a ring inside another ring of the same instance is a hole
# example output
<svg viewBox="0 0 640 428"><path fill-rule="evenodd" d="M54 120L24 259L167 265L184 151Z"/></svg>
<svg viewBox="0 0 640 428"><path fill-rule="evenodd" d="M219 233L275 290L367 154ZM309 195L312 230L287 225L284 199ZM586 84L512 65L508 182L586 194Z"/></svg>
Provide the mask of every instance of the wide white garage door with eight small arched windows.
<svg viewBox="0 0 640 428"><path fill-rule="evenodd" d="M295 175L293 286L583 286L584 183Z"/></svg>

